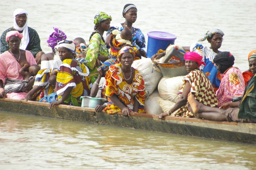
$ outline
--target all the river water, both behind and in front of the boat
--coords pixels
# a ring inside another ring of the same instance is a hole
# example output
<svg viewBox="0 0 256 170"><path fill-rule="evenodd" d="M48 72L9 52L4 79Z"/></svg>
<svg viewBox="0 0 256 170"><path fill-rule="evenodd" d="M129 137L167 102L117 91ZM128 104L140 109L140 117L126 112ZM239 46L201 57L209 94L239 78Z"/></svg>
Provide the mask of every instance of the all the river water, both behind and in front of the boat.
<svg viewBox="0 0 256 170"><path fill-rule="evenodd" d="M44 52L53 26L67 39L93 31L94 15L104 11L111 25L124 22L124 4L134 3L133 26L144 33L164 31L189 46L208 29L225 35L221 51L230 51L235 65L248 69L247 55L256 49L255 0L0 0L0 32L13 26L12 13L24 8L28 26L37 30ZM204 45L209 45L206 41ZM255 169L256 147L219 140L177 136L93 125L21 114L0 113L0 169Z"/></svg>

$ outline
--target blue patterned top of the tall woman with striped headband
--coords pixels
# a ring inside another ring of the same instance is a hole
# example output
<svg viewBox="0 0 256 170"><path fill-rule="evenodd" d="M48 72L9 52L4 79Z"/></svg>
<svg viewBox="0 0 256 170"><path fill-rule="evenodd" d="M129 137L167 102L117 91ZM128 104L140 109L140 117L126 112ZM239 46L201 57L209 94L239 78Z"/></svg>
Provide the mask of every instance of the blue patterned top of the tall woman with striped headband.
<svg viewBox="0 0 256 170"><path fill-rule="evenodd" d="M135 47L137 47L138 50L145 50L146 47L146 41L145 41L145 37L144 34L141 32L141 30L139 28L135 28L132 27L133 29L132 31L132 36L133 36L133 42L132 45L134 45ZM124 27L120 24L119 26L112 26L109 28L108 32L106 33L107 35L110 34L113 30L123 30Z"/></svg>

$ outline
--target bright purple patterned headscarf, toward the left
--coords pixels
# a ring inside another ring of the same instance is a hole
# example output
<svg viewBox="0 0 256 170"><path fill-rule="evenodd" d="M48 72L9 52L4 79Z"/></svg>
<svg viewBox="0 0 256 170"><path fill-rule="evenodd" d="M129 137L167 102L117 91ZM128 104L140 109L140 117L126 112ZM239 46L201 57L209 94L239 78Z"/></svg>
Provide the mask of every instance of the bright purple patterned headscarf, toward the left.
<svg viewBox="0 0 256 170"><path fill-rule="evenodd" d="M66 34L62 32L59 28L53 27L54 32L50 34L49 39L46 41L48 43L48 46L51 48L54 48L58 42L65 40L67 38Z"/></svg>

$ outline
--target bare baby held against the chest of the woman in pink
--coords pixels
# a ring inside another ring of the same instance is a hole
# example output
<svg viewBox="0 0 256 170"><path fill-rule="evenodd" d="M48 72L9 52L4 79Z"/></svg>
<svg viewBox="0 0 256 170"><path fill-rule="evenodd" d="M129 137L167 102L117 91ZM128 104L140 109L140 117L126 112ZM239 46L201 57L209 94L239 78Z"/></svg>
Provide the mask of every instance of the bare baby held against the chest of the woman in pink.
<svg viewBox="0 0 256 170"><path fill-rule="evenodd" d="M24 66L19 70L19 73L23 75L23 79L27 80L29 77L37 75L37 72L40 70L39 65L29 65L25 63Z"/></svg>

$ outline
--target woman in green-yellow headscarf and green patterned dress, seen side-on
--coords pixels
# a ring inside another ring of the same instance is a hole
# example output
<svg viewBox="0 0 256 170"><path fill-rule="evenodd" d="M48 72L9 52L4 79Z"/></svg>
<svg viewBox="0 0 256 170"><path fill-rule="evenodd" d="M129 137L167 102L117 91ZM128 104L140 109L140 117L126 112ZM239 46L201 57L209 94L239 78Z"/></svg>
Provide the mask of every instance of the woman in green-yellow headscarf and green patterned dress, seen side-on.
<svg viewBox="0 0 256 170"><path fill-rule="evenodd" d="M110 22L112 18L104 12L100 12L94 17L94 32L89 39L89 45L84 64L89 68L91 82L94 83L98 77L99 61L105 61L108 59L109 52L105 45L103 38L104 31L108 31L110 28Z"/></svg>

